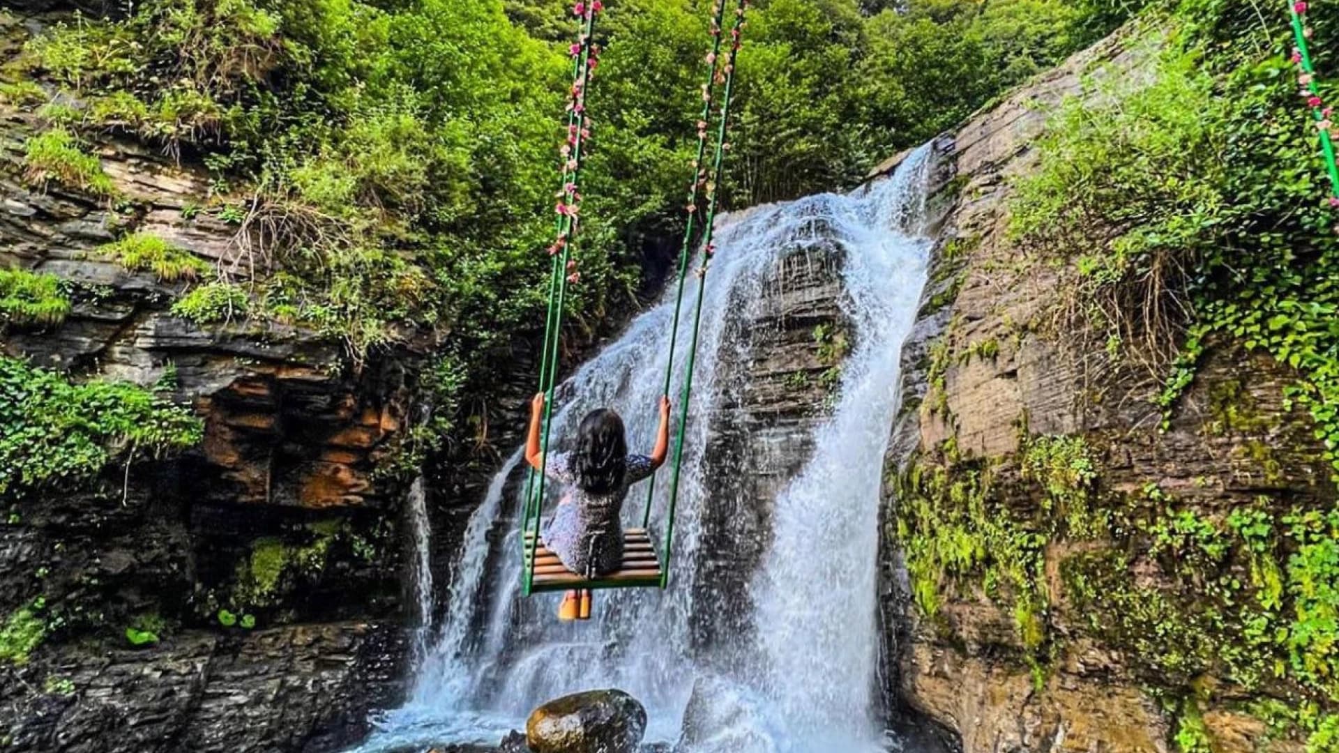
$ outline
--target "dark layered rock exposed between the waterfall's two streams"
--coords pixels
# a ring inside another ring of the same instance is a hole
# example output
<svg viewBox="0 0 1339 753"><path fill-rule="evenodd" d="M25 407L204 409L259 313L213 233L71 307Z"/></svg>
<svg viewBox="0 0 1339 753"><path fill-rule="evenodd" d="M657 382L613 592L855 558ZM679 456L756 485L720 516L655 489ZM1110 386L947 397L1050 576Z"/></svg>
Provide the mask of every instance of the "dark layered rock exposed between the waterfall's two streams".
<svg viewBox="0 0 1339 753"><path fill-rule="evenodd" d="M730 657L750 640L749 586L771 541L771 500L813 454L849 348L842 257L836 244L781 257L758 315L732 319L722 336L730 346L716 379L727 389L707 441L712 489L694 596L718 616L694 626L699 650Z"/></svg>

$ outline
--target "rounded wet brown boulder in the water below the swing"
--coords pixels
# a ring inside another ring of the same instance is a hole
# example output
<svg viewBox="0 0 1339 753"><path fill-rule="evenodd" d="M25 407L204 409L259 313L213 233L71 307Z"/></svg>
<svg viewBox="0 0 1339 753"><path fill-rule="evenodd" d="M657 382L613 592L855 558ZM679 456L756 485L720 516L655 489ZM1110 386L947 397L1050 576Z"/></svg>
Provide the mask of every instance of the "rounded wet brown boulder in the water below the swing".
<svg viewBox="0 0 1339 753"><path fill-rule="evenodd" d="M534 753L636 753L647 710L621 690L588 690L530 713L525 740Z"/></svg>

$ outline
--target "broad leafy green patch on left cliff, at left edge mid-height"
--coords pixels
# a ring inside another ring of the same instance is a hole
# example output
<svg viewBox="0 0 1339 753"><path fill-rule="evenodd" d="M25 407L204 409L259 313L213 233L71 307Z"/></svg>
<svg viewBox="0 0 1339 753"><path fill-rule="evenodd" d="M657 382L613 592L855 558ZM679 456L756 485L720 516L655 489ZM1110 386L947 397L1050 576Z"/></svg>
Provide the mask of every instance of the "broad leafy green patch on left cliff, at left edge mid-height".
<svg viewBox="0 0 1339 753"><path fill-rule="evenodd" d="M187 409L135 385L74 383L13 358L0 358L0 496L181 450L204 433Z"/></svg>

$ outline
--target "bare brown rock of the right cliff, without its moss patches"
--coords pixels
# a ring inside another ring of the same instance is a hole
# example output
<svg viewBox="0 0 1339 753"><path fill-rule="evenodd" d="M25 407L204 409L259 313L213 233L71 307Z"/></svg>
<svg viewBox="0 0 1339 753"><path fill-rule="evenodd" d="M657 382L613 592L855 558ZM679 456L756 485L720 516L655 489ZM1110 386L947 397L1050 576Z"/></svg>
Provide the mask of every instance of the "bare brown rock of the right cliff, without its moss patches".
<svg viewBox="0 0 1339 753"><path fill-rule="evenodd" d="M955 190L944 192L953 196L947 200L940 249L952 241L961 253L937 255L902 352L902 402L888 477L915 466L917 476L944 472L948 484L956 484L963 472L947 457L948 448L955 457L1016 468L1020 437L1077 435L1101 456L1095 484L1110 493L1156 485L1176 497L1177 508L1208 517L1251 504L1261 492L1330 509L1334 490L1320 481L1328 469L1316 461L1320 453L1307 434L1310 419L1283 402L1287 376L1277 364L1212 347L1168 429L1160 431L1161 409L1153 401L1158 382L1127 364L1110 364L1103 343L1087 338L1079 320L1056 315L1066 295L1065 271L1031 264L1035 249L1020 248L1007 232L1010 178L1035 169L1032 143L1046 125L1047 106L1082 95L1082 82L1094 71L1148 75L1153 50L1130 44L1129 33L1038 76L936 142L956 173ZM939 201L945 200L931 197L928 204ZM981 344L994 346L988 356L973 352ZM932 348L943 348L933 387ZM1224 390L1233 410L1249 413L1252 421L1213 429L1214 394ZM1039 494L1019 484L1007 488L1008 482L1000 481L992 501L1020 519L1035 515ZM1178 679L1141 667L1142 658L1125 636L1091 628L1109 620L1085 614L1060 576L1110 540L1047 541L1039 579L1048 600L1046 628L1058 639L1047 673L1039 677L1024 661L1018 618L1003 606L1006 600L955 583L944 590L933 619L923 619L912 607L898 552L897 505L890 484L880 563L890 706L928 715L952 732L964 753L1170 749L1176 720L1148 689L1174 686ZM1117 565L1125 571L1103 572L1161 594L1200 591L1141 552L1131 552L1130 560ZM1185 687L1185 694L1208 687L1208 679L1196 679L1196 690ZM1287 749L1285 744L1267 748L1263 725L1237 711L1243 701L1259 698L1256 693L1214 693L1205 699L1213 750Z"/></svg>

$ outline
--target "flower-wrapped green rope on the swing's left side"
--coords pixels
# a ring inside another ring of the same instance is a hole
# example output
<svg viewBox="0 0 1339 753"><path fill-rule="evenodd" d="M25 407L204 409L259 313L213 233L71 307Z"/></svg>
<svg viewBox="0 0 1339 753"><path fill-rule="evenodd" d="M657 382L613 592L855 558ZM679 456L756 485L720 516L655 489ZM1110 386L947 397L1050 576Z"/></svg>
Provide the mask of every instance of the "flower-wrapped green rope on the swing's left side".
<svg viewBox="0 0 1339 753"><path fill-rule="evenodd" d="M557 241L549 249L553 264L549 272L549 305L544 326L544 351L540 360L540 391L544 393L544 438L540 445L542 464L549 462L549 431L553 426L553 387L558 371L558 342L562 332L562 307L566 303L568 264L572 259L572 247L577 230L577 202L580 194L577 188L581 180L581 155L586 138L588 119L585 115L585 91L590 82L593 68L592 47L595 32L595 16L600 11L599 0L585 5L577 4L576 13L581 16L581 32L577 43L573 78L576 83L572 88L572 103L568 111L568 141L564 149L562 189L558 192L558 218ZM574 276L573 276L574 277ZM530 532L533 519L533 536L529 543L529 567L525 568L522 592L529 596L534 583L534 561L540 547L540 519L544 506L544 481L541 470L530 469L526 477L525 510L522 513L521 531ZM521 536L522 553L526 549L525 536Z"/></svg>

